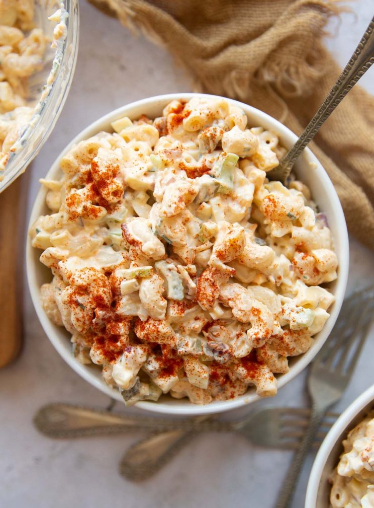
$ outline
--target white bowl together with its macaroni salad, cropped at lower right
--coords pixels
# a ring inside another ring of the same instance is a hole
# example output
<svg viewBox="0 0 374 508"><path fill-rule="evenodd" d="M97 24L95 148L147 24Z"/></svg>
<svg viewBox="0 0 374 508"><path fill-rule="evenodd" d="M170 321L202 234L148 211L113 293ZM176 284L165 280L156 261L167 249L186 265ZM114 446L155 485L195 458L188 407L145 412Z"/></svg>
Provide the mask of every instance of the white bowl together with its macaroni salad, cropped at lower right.
<svg viewBox="0 0 374 508"><path fill-rule="evenodd" d="M305 508L374 506L374 385L342 413L323 440Z"/></svg>

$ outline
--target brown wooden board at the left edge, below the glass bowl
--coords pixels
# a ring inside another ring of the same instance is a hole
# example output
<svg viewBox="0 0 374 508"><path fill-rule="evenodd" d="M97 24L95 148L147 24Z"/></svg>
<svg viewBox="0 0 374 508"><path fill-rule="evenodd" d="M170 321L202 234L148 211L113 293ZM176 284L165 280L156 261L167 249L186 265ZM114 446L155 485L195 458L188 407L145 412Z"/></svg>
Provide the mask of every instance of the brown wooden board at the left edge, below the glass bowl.
<svg viewBox="0 0 374 508"><path fill-rule="evenodd" d="M20 176L0 194L0 368L17 358L22 344L27 180Z"/></svg>

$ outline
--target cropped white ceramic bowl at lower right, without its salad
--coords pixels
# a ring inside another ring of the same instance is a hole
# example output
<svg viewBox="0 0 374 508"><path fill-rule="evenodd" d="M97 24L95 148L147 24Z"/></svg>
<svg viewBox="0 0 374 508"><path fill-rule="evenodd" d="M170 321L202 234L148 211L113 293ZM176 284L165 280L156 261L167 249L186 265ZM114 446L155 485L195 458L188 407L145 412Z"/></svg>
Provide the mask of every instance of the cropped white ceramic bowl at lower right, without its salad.
<svg viewBox="0 0 374 508"><path fill-rule="evenodd" d="M331 427L313 463L305 497L305 508L330 507L331 484L328 478L343 452L342 441L373 407L374 385L352 402Z"/></svg>

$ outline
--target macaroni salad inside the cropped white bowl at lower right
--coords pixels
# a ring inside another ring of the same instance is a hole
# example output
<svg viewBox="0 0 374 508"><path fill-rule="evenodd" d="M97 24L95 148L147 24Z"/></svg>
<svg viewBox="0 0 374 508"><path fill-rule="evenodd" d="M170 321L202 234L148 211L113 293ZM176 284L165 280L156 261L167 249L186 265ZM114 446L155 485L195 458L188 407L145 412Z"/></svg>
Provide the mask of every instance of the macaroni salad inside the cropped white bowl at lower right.
<svg viewBox="0 0 374 508"><path fill-rule="evenodd" d="M374 508L374 411L343 441L331 483L332 508Z"/></svg>

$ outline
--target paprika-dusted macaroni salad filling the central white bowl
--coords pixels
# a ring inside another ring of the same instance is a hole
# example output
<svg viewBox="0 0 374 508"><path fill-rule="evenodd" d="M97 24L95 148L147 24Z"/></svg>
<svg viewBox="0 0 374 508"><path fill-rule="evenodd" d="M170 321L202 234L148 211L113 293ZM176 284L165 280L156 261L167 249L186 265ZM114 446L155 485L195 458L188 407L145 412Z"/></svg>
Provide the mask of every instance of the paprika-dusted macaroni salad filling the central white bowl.
<svg viewBox="0 0 374 508"><path fill-rule="evenodd" d="M303 183L267 180L286 150L247 123L224 99L173 101L114 121L42 180L43 307L128 404L275 395L329 316L326 217Z"/></svg>

